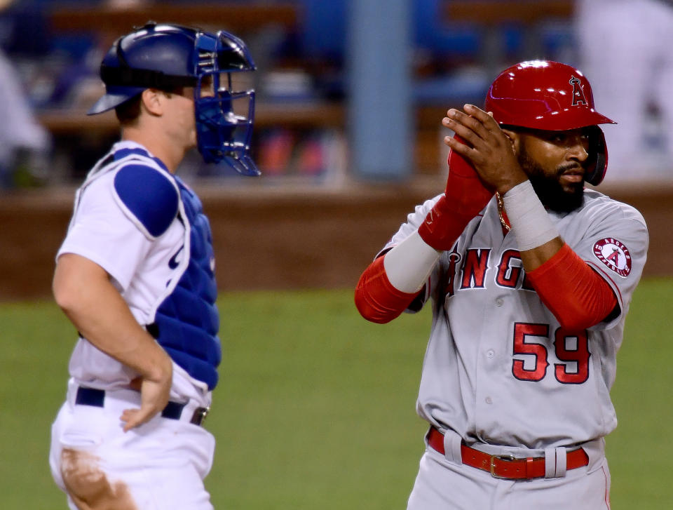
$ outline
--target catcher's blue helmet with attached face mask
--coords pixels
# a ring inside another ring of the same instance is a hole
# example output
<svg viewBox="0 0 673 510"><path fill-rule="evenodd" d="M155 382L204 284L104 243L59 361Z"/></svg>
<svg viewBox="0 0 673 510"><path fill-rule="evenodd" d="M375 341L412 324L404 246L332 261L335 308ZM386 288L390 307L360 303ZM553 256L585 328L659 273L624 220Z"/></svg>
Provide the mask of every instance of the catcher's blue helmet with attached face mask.
<svg viewBox="0 0 673 510"><path fill-rule="evenodd" d="M254 90L233 90L233 73L254 71L245 43L172 24L147 25L115 41L100 65L105 95L88 111L100 114L136 98L146 88L194 88L198 152L206 163L225 161L245 175L259 175L250 157ZM201 97L201 86L215 95Z"/></svg>

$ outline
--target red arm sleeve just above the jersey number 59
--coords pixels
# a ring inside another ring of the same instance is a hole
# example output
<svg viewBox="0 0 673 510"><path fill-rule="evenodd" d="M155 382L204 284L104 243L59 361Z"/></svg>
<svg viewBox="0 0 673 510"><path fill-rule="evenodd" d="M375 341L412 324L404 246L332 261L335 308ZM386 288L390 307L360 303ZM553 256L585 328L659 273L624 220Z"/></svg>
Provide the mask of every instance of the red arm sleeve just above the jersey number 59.
<svg viewBox="0 0 673 510"><path fill-rule="evenodd" d="M617 306L609 284L566 243L528 276L545 306L569 330L590 328Z"/></svg>

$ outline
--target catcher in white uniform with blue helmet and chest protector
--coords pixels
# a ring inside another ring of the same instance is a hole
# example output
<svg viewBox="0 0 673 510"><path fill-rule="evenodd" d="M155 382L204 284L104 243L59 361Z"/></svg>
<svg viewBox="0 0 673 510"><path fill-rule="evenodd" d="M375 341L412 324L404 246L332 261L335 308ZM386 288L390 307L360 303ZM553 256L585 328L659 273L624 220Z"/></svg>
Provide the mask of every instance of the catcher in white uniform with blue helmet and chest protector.
<svg viewBox="0 0 673 510"><path fill-rule="evenodd" d="M198 196L175 175L193 147L257 175L243 41L148 23L100 68L121 142L76 194L53 291L79 333L50 467L71 509L212 509L202 427L221 358L215 257Z"/></svg>

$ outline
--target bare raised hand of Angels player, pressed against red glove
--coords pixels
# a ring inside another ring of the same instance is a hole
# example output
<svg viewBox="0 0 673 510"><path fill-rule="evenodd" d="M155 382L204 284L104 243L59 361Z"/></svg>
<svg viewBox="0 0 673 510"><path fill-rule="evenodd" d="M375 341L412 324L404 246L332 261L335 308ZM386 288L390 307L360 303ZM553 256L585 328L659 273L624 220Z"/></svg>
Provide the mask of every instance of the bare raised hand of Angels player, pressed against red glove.
<svg viewBox="0 0 673 510"><path fill-rule="evenodd" d="M482 180L500 194L527 180L510 138L493 116L474 105L465 105L464 110L449 109L442 124L454 130L467 145L448 136L444 137L444 144L468 159Z"/></svg>

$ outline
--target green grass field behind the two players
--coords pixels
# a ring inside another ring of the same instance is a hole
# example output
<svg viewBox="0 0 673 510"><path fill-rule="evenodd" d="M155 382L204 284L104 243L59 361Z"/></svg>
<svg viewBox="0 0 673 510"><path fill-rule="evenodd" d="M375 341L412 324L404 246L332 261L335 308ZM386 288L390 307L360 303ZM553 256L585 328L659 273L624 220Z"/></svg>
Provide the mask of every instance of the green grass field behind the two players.
<svg viewBox="0 0 673 510"><path fill-rule="evenodd" d="M669 509L673 279L641 283L613 388L613 510ZM428 311L386 326L350 290L222 295L222 382L206 427L217 509L404 509L426 426L414 406ZM50 423L74 330L49 302L0 305L2 509L66 509Z"/></svg>

